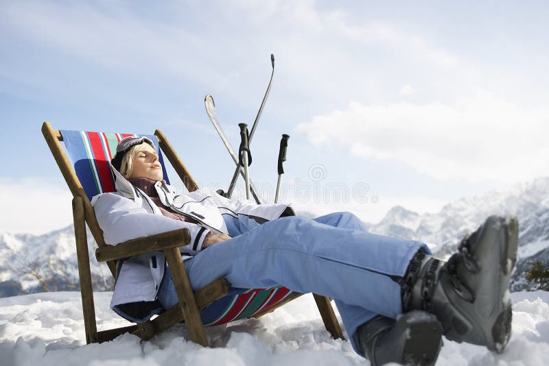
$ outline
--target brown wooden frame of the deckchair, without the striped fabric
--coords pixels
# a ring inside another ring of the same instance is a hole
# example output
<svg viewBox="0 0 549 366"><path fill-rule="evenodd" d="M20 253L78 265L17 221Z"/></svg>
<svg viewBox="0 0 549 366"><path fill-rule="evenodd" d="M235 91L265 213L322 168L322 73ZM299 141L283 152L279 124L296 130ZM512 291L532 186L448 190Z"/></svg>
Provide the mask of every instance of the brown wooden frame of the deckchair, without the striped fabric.
<svg viewBox="0 0 549 366"><path fill-rule="evenodd" d="M219 300L227 295L231 284L229 284L226 279L219 278L199 291L193 291L191 289L187 271L185 271L185 266L183 265L183 260L181 259L178 250L178 247L190 242L189 230L180 229L163 232L161 234L126 241L116 246L106 245L103 239L103 232L99 223L97 223L91 202L60 144L62 141L61 132L59 130L54 130L49 122L44 122L42 125L42 133L51 150L51 154L54 155L63 178L65 178L73 195L74 233L76 239L76 254L78 257L78 274L80 278L80 293L82 294L82 312L84 313L86 343L110 341L125 332L132 332L132 334L136 334L141 339L148 340L154 337L154 335L171 328L175 324L185 321L191 341L208 346L209 344L202 320L200 319L199 309L205 308L215 300ZM185 164L178 158L172 145L161 130L156 130L154 135L158 138L159 147L162 149L167 159L170 160L172 167L174 167L175 171L178 173L183 184L185 184L189 191L196 190L198 185L185 167ZM107 263L113 277L115 276L116 260L137 254L163 251L167 263L170 266L170 271L172 272L172 279L179 299L178 304L155 319L145 321L145 323L97 332L93 290L91 285L90 258L86 239L86 223L98 246L95 251L95 257L97 258L97 261ZM292 293L282 302L268 308L264 312L254 315L254 317L261 317L262 315L270 313L275 308L278 308L301 295L303 294ZM329 299L325 296L315 294L314 300L316 301L326 329L330 332L331 336L334 337L334 339L344 339Z"/></svg>

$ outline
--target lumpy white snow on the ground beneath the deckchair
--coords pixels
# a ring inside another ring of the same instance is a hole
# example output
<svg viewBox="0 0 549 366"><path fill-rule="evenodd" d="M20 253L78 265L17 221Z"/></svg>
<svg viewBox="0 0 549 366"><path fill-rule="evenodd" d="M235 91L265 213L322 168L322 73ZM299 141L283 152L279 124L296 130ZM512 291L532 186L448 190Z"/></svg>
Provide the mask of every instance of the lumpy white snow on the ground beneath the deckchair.
<svg viewBox="0 0 549 366"><path fill-rule="evenodd" d="M128 323L108 309L112 293L95 293L99 330ZM545 365L549 358L549 293L515 292L513 334L502 354L444 341L437 365ZM305 295L261 319L207 328L213 348L185 341L177 326L143 342L130 334L85 345L80 293L35 293L0 299L0 364L10 365L367 365L348 341L323 327Z"/></svg>

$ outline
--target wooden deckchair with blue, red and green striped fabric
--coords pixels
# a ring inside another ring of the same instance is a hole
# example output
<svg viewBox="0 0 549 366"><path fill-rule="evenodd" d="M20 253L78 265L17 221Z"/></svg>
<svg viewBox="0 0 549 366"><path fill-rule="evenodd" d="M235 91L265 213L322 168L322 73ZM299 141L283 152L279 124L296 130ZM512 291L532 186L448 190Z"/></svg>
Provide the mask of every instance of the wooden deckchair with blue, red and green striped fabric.
<svg viewBox="0 0 549 366"><path fill-rule="evenodd" d="M163 167L165 179L168 180L162 152L178 173L187 190L194 191L198 188L185 164L178 158L172 145L170 145L161 130L156 130L154 135L106 134L103 132L54 130L50 123L44 122L42 132L51 154L54 155L73 195L73 221L86 343L110 341L125 332L132 332L141 339L148 340L154 335L184 321L191 341L208 346L204 331L205 325L216 326L246 317L261 317L303 295L281 286L272 289L248 289L246 291L232 289L231 284L224 278L219 278L204 288L193 291L178 250L178 247L190 241L189 230L187 229L133 239L116 246L106 245L90 199L93 195L114 191L110 159L114 155L115 147L121 138L125 136L148 136L159 148L159 160ZM64 143L65 149L63 149L61 143ZM65 150L70 156L72 164ZM90 258L86 240L86 223L97 243L95 257L98 262L107 263L113 278L115 277L117 260L149 252L165 252L165 258L170 266L178 295L178 304L165 310L152 320L149 319L133 326L97 332ZM334 339L344 339L329 299L314 294L314 300L331 336Z"/></svg>

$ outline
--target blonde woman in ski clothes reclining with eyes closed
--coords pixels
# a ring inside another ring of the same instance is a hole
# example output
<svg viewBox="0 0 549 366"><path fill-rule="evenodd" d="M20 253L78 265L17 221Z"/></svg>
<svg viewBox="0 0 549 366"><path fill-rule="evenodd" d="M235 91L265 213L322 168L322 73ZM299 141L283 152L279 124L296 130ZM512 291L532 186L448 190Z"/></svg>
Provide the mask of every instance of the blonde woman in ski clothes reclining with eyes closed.
<svg viewBox="0 0 549 366"><path fill-rule="evenodd" d="M122 139L112 167L117 192L92 200L106 243L188 228L180 252L194 289L225 277L234 287L331 297L354 349L373 365L433 365L442 334L497 352L509 341L515 219L490 217L443 263L423 243L366 232L348 212L309 220L285 204L242 203L207 188L178 195L145 137ZM142 321L173 306L164 264L158 253L119 262L113 309Z"/></svg>

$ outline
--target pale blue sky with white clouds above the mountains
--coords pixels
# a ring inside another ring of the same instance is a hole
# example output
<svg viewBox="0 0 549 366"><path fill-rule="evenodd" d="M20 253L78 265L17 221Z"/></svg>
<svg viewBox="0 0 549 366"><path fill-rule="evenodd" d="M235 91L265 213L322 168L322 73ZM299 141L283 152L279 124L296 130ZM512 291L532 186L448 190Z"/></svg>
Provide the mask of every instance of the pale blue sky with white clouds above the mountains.
<svg viewBox="0 0 549 366"><path fill-rule="evenodd" d="M161 128L200 184L226 187L234 168L204 96L237 146L270 53L250 172L271 200L283 133L283 198L318 214L434 212L547 175L546 19L544 1L0 1L0 121L16 136L0 230L71 222L43 121Z"/></svg>

